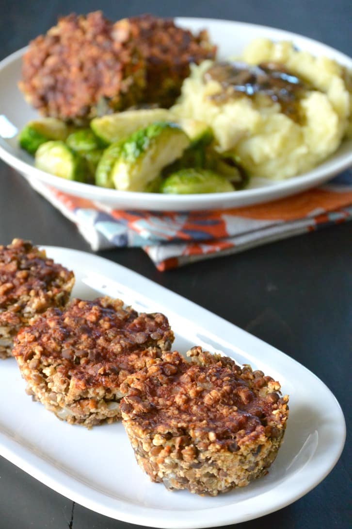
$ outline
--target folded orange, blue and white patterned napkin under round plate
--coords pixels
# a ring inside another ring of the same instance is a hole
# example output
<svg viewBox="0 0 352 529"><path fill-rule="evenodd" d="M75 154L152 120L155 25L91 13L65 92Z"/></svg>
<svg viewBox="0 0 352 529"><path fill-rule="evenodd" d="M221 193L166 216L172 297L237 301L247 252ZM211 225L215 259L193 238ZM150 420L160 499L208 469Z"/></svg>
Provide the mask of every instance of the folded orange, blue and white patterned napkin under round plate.
<svg viewBox="0 0 352 529"><path fill-rule="evenodd" d="M77 224L92 250L141 247L161 271L352 218L352 170L327 185L267 204L189 213L121 211L39 181L31 185Z"/></svg>

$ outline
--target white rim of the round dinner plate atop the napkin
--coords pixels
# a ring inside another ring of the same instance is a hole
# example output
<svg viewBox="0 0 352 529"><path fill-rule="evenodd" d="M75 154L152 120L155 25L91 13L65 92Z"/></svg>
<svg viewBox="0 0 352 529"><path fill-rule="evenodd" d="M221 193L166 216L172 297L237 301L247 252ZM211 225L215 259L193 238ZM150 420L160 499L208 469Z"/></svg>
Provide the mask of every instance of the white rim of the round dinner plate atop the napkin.
<svg viewBox="0 0 352 529"><path fill-rule="evenodd" d="M352 58L348 57L345 53L340 52L339 50L330 47L323 42L317 41L306 37L305 35L300 35L299 33L294 33L286 30L281 30L279 28L273 28L271 26L264 26L260 24L252 24L241 21L234 20L224 20L224 19L213 19L213 18L202 18L202 17L175 17L175 20L180 23L187 25L187 23L197 22L199 24L211 24L211 23L221 23L226 25L240 25L244 28L256 29L259 31L274 31L280 32L285 35L287 38L294 39L303 39L308 44L318 45L326 50L328 54L332 56L337 56L344 63L347 63L350 68L352 68ZM21 48L9 56L5 57L0 61L0 75L2 70L21 58L22 54L27 47ZM46 185L52 185L56 189L60 189L66 193L74 194L78 193L78 196L82 196L88 199L93 200L94 195L97 193L97 186L91 184L83 184L80 182L64 180L54 175L50 175L45 171L37 169L27 163L26 161L18 158L16 154L12 154L11 146L5 143L5 147L0 142L0 158L2 158L6 163L11 167L14 167L22 174L26 174L26 178L35 179L43 182ZM163 211L169 209L169 211L187 211L187 209L215 209L215 208L229 208L229 207L243 207L251 204L265 203L270 202L271 200L276 200L279 198L284 198L289 195L300 193L311 187L317 186L324 183L325 181L331 179L339 172L344 171L345 169L352 166L352 151L350 154L345 153L341 155L343 160L340 162L337 161L332 170L324 171L324 168L321 169L321 166L325 162L329 162L329 159L334 157L334 153L327 160L324 160L318 166L312 168L310 171L307 171L303 175L298 175L296 177L288 178L285 180L274 181L272 185L265 187L256 187L252 189L244 189L240 191L230 191L226 193L208 193L208 194L193 194L193 195L158 195L155 193L140 193L137 191L119 191L117 189L106 189L99 188L99 200L106 201L106 203L120 203L120 208L140 208L145 209L154 209L155 211ZM321 174L322 171L322 174ZM230 206L229 201L233 204ZM221 205L221 203L226 203ZM239 203L239 204L236 204ZM241 204L240 204L241 202ZM123 206L123 203L126 203L126 206ZM137 206L132 205L137 204ZM214 205L209 205L213 203Z"/></svg>

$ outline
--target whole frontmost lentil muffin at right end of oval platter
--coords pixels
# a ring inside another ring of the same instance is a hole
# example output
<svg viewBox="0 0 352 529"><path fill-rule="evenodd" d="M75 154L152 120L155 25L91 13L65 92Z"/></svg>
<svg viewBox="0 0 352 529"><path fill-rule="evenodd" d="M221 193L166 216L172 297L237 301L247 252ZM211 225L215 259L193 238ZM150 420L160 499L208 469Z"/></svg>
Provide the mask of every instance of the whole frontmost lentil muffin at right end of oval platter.
<svg viewBox="0 0 352 529"><path fill-rule="evenodd" d="M164 352L121 385L139 466L170 489L217 495L265 475L277 456L288 396L262 371L195 347Z"/></svg>

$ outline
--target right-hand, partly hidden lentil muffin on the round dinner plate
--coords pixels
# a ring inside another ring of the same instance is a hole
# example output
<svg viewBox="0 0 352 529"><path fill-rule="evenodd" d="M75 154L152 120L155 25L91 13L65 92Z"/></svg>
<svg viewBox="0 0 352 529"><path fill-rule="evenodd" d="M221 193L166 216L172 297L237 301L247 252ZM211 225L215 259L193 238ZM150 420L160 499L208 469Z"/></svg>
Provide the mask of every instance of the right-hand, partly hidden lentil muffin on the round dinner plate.
<svg viewBox="0 0 352 529"><path fill-rule="evenodd" d="M171 106L180 94L183 80L189 76L189 65L214 59L216 46L207 31L197 34L179 28L173 19L150 14L132 16L115 24L115 34L136 42L146 62L144 103Z"/></svg>

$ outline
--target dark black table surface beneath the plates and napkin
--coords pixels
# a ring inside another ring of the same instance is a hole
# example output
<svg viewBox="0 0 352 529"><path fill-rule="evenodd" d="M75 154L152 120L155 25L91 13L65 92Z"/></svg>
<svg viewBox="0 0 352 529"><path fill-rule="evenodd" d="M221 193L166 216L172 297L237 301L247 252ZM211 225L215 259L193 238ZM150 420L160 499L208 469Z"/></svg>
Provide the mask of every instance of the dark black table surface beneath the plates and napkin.
<svg viewBox="0 0 352 529"><path fill-rule="evenodd" d="M101 8L119 17L151 12L203 16L280 27L351 53L348 0L193 1L130 0L25 2L2 0L0 59L21 48L71 11ZM259 336L323 380L350 424L352 223L297 236L236 256L158 272L137 249L101 252ZM0 162L0 243L14 237L90 251L75 227ZM324 406L324 403L321 403ZM309 494L240 529L349 527L351 453L347 446L329 476ZM0 529L127 529L130 524L94 513L56 494L0 458ZM130 526L133 527L133 526Z"/></svg>

